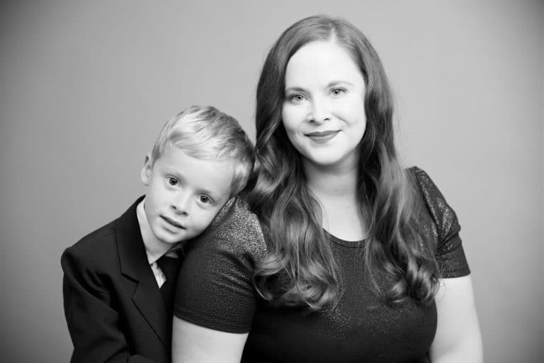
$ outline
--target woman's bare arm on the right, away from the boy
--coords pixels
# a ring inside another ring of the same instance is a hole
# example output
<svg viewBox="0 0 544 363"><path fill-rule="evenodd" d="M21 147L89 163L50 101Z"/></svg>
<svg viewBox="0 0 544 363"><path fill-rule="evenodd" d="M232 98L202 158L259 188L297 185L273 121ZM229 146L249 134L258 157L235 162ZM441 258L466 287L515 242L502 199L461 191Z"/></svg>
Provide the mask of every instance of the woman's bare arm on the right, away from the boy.
<svg viewBox="0 0 544 363"><path fill-rule="evenodd" d="M441 279L436 294L437 327L433 363L481 363L482 337L470 275Z"/></svg>

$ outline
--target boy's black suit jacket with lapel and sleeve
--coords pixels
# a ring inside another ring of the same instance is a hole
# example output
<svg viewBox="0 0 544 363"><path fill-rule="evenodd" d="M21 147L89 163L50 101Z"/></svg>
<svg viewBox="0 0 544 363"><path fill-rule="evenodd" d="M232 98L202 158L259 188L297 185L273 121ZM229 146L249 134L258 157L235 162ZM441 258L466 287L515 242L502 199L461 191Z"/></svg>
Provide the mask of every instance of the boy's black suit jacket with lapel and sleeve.
<svg viewBox="0 0 544 363"><path fill-rule="evenodd" d="M136 216L142 198L62 254L71 362L171 361L172 318L149 267Z"/></svg>

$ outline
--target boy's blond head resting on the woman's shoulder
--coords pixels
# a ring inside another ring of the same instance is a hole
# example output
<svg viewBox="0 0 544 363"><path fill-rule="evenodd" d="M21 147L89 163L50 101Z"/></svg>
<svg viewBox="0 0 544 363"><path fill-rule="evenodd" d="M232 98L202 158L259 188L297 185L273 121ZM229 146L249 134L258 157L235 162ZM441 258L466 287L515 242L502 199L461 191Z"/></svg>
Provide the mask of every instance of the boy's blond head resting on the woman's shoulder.
<svg viewBox="0 0 544 363"><path fill-rule="evenodd" d="M142 167L145 214L157 239L196 237L246 186L254 148L239 123L217 108L191 106L168 121Z"/></svg>

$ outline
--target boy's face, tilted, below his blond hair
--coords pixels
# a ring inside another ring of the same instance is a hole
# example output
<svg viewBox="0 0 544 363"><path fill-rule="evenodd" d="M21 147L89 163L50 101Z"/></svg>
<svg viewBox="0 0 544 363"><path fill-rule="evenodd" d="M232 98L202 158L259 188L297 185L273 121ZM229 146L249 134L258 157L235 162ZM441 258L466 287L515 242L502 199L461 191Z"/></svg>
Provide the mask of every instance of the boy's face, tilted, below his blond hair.
<svg viewBox="0 0 544 363"><path fill-rule="evenodd" d="M160 241L173 244L200 234L229 199L233 172L229 160L202 160L168 147L151 164L145 158L142 182L148 186L145 214Z"/></svg>

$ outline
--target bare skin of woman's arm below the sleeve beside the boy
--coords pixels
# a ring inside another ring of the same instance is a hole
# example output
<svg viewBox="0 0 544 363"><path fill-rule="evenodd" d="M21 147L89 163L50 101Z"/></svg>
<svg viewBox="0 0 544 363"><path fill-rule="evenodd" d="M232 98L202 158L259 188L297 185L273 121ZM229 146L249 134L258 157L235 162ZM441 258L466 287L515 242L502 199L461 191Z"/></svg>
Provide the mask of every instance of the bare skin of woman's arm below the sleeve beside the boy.
<svg viewBox="0 0 544 363"><path fill-rule="evenodd" d="M247 335L204 328L174 316L172 362L240 362Z"/></svg>

